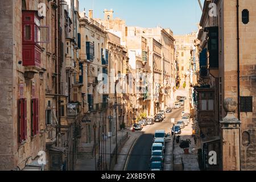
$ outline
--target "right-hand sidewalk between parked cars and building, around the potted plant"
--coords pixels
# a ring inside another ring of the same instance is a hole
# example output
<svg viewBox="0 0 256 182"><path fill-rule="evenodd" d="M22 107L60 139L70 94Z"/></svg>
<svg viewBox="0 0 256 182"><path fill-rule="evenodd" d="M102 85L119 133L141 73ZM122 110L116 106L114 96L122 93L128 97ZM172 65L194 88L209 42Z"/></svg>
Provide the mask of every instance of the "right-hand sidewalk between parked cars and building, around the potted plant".
<svg viewBox="0 0 256 182"><path fill-rule="evenodd" d="M185 129L182 130L181 133L181 140L190 139L191 144L189 146L189 154L185 155L183 148L179 147L179 144L175 142L174 148L174 170L175 171L200 171L199 163L198 163L198 156L195 150L195 140L192 137L192 125L193 123L189 123ZM183 167L181 166L183 165ZM182 169L182 168L183 169Z"/></svg>

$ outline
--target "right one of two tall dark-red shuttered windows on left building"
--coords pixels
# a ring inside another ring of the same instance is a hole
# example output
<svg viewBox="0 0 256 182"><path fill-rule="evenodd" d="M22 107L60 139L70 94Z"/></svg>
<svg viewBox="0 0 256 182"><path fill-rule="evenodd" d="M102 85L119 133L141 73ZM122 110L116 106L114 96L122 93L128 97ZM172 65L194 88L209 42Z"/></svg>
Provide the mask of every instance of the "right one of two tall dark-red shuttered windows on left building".
<svg viewBox="0 0 256 182"><path fill-rule="evenodd" d="M31 112L31 136L34 137L39 133L39 100L38 98L32 99L32 112Z"/></svg>

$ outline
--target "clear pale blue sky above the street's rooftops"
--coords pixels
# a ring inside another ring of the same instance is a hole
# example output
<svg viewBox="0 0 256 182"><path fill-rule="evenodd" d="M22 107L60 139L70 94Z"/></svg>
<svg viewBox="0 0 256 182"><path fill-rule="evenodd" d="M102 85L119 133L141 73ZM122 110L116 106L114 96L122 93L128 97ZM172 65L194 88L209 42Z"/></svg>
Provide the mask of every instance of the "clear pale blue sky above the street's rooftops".
<svg viewBox="0 0 256 182"><path fill-rule="evenodd" d="M204 0L201 0L202 5ZM201 9L197 0L79 0L80 11L93 9L94 18L104 18L113 9L114 18L127 26L171 28L175 35L197 30Z"/></svg>

